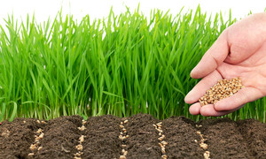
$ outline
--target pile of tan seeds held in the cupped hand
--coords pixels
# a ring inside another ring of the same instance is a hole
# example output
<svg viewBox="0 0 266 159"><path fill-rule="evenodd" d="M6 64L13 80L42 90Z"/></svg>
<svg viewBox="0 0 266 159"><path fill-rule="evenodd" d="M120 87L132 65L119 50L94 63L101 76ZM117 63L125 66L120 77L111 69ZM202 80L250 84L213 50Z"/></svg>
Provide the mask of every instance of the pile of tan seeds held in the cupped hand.
<svg viewBox="0 0 266 159"><path fill-rule="evenodd" d="M200 97L200 105L215 104L224 98L236 94L241 88L243 88L243 86L240 78L233 78L230 80L221 79L215 86L208 89L205 95Z"/></svg>

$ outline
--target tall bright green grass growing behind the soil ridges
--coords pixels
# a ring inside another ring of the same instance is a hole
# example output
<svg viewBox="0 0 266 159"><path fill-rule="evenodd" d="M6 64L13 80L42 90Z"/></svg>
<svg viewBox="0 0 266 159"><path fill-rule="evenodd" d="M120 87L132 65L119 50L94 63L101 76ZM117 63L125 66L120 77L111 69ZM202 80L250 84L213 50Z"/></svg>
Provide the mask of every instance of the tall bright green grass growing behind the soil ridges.
<svg viewBox="0 0 266 159"><path fill-rule="evenodd" d="M186 95L198 82L192 68L234 19L221 13L177 15L125 11L81 22L59 15L19 25L9 17L0 32L0 120L51 119L139 112L154 117L191 117ZM251 102L229 117L265 122L266 100Z"/></svg>

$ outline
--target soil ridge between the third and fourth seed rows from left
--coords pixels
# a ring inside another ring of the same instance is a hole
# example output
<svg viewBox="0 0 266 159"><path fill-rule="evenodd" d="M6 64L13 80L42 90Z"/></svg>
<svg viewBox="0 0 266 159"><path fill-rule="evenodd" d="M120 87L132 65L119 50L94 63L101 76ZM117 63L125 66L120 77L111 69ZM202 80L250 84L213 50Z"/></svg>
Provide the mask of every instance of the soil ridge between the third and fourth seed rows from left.
<svg viewBox="0 0 266 159"><path fill-rule="evenodd" d="M158 144L158 132L154 124L159 121L150 115L137 114L128 118L127 131L129 139L126 140L127 159L133 158L160 158L161 150Z"/></svg>

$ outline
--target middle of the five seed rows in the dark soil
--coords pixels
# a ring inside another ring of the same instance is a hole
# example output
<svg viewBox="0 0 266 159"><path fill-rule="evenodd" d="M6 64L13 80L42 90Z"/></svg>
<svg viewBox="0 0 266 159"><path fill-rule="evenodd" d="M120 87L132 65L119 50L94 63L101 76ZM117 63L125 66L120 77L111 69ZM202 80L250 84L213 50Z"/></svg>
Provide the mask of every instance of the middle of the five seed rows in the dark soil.
<svg viewBox="0 0 266 159"><path fill-rule="evenodd" d="M124 124L127 124L129 122L129 120L125 120L123 122L120 123L120 128L121 128L121 133L119 135L119 139L123 141L123 144L121 145L122 150L121 150L121 155L119 157L119 159L126 159L127 155L128 155L128 151L125 150L125 148L127 147L126 144L124 144L125 139L129 138L129 135L127 134L127 129L125 128Z"/></svg>

